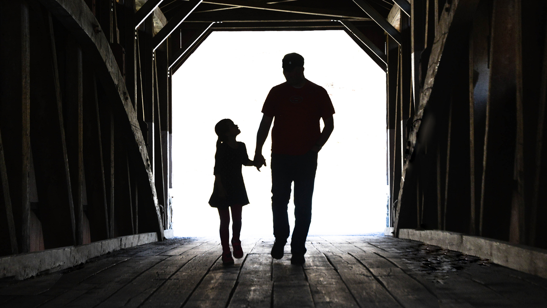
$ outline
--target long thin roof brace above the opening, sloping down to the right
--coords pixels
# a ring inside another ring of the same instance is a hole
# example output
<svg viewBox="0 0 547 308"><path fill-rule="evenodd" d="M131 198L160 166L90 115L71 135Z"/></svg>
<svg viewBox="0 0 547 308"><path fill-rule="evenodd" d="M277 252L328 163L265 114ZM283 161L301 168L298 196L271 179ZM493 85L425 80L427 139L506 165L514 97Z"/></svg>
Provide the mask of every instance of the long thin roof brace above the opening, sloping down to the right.
<svg viewBox="0 0 547 308"><path fill-rule="evenodd" d="M333 18L333 19L334 18L364 19L364 20L367 19L366 17L359 14L355 14L353 12L340 12L336 10L324 10L324 9L315 9L315 8L301 8L301 7L293 7L293 6L278 5L278 4L259 4L259 3L251 3L248 1L240 1L240 0L205 0L203 1L203 3L228 5L230 7L240 7L240 8L249 8L249 9L271 10L276 12L328 16L329 18Z"/></svg>

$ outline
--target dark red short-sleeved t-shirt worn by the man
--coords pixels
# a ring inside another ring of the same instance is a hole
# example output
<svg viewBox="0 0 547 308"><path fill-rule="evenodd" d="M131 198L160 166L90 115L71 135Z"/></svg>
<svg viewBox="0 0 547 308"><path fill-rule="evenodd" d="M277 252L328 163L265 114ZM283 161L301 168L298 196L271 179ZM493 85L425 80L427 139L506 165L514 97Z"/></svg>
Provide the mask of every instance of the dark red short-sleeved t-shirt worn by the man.
<svg viewBox="0 0 547 308"><path fill-rule="evenodd" d="M274 117L272 153L303 155L321 135L319 119L334 114L327 90L311 81L295 88L284 82L270 90L262 113Z"/></svg>

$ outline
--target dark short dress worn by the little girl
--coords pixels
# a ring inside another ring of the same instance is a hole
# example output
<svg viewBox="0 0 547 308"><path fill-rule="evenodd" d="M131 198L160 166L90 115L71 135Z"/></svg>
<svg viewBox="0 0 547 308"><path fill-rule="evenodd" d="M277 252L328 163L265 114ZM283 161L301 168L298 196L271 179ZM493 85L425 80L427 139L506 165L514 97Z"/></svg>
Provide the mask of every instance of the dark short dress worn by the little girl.
<svg viewBox="0 0 547 308"><path fill-rule="evenodd" d="M213 208L225 209L234 205L249 204L241 166L249 161L247 148L243 142L237 142L237 149L232 149L226 142L219 144L214 155L214 175L220 175L226 198L220 198L214 185L209 204Z"/></svg>

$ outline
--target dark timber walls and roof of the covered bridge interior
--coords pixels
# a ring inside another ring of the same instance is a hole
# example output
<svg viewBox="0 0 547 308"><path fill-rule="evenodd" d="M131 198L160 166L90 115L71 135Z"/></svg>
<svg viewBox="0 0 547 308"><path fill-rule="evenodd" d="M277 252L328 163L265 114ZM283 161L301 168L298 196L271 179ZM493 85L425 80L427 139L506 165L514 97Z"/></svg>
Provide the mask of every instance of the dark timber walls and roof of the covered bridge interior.
<svg viewBox="0 0 547 308"><path fill-rule="evenodd" d="M546 17L540 0L1 1L0 278L184 247L166 239L173 74L213 31L343 30L386 72L385 240L488 259L544 290Z"/></svg>

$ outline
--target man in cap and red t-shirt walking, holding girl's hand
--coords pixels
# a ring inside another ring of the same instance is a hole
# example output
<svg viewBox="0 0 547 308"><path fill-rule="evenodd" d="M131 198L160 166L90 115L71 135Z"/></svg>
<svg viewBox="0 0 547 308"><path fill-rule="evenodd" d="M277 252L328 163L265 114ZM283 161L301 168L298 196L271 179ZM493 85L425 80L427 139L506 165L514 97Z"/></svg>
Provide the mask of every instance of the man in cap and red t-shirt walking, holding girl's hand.
<svg viewBox="0 0 547 308"><path fill-rule="evenodd" d="M275 243L271 255L274 259L283 258L290 232L287 205L290 185L294 182L295 223L290 262L301 265L305 262L305 242L310 229L317 153L333 132L334 107L327 91L304 77L304 58L301 55L287 54L282 62L287 82L272 88L264 102L254 162L258 169L266 166L262 147L275 118L271 154ZM323 131L319 125L321 118Z"/></svg>

